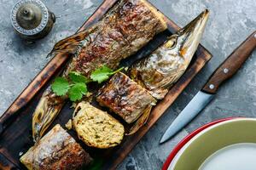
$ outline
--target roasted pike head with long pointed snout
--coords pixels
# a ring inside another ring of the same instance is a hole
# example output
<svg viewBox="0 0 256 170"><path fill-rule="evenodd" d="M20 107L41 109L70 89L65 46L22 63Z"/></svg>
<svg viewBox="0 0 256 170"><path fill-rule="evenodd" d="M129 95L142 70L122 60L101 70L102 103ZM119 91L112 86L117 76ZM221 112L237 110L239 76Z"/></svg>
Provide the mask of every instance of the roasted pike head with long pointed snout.
<svg viewBox="0 0 256 170"><path fill-rule="evenodd" d="M155 99L163 99L189 66L206 27L206 9L182 30L177 31L148 57L131 66L131 78L148 89Z"/></svg>

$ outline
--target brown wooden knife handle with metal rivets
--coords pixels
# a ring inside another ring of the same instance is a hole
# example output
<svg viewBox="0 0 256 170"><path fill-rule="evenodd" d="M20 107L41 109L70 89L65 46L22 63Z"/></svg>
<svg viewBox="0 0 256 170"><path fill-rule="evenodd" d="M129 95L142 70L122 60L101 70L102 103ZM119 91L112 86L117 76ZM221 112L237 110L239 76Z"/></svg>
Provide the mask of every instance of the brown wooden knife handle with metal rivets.
<svg viewBox="0 0 256 170"><path fill-rule="evenodd" d="M201 90L208 94L216 94L219 85L238 71L250 54L252 54L254 48L256 48L256 31L247 37L247 39L219 65L218 69L213 72L212 76Z"/></svg>

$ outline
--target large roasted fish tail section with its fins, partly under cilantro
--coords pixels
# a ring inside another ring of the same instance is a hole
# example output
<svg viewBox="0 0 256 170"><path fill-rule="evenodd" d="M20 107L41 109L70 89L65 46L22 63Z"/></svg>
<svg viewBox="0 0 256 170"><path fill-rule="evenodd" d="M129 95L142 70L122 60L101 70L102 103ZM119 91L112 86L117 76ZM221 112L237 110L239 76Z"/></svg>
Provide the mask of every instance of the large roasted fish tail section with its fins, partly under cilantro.
<svg viewBox="0 0 256 170"><path fill-rule="evenodd" d="M115 69L121 59L137 52L166 27L163 15L145 0L120 0L90 29L57 42L51 54L73 56L63 77L67 77L69 71L89 77L91 71L102 65ZM50 89L44 92L32 117L34 141L44 135L65 100Z"/></svg>

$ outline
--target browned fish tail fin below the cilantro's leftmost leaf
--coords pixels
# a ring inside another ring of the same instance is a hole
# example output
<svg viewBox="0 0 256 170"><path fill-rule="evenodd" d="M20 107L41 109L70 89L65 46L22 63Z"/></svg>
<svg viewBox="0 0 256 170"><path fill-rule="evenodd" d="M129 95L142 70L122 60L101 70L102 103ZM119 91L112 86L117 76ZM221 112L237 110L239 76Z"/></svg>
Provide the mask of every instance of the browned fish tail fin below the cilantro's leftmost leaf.
<svg viewBox="0 0 256 170"><path fill-rule="evenodd" d="M32 115L32 137L34 142L38 142L44 135L49 125L61 111L65 99L55 96L50 89L47 89L38 106Z"/></svg>

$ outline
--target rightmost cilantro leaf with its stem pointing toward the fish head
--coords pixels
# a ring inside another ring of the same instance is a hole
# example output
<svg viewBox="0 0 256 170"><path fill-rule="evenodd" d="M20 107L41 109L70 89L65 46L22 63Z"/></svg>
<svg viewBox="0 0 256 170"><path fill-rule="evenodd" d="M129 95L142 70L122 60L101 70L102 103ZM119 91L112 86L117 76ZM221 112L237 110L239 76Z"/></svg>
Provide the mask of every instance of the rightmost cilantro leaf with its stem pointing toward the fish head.
<svg viewBox="0 0 256 170"><path fill-rule="evenodd" d="M102 83L102 82L108 80L109 76L113 75L114 73L116 73L118 71L121 71L122 69L123 69L123 67L117 71L112 71L110 68L108 68L108 66L103 65L101 68L98 68L95 71L93 71L90 75L90 78L94 82Z"/></svg>

